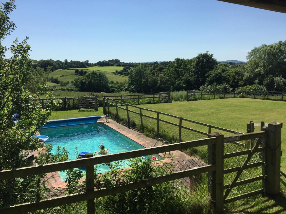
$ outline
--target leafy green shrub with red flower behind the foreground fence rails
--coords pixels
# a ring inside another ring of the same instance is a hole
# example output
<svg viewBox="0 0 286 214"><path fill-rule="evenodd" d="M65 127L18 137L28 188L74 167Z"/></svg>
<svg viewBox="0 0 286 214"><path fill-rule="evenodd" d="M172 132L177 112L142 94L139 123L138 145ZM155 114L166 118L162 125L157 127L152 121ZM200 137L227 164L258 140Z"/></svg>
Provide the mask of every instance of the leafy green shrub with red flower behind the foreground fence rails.
<svg viewBox="0 0 286 214"><path fill-rule="evenodd" d="M120 161L106 163L110 171L100 175L100 188L112 188L162 174L160 167L154 167L150 159L134 158L129 161L132 168L127 170L122 169ZM109 195L101 199L100 206L111 213L150 213L155 210L159 213L178 213L182 211L182 201L176 194L176 188L175 181L169 181Z"/></svg>

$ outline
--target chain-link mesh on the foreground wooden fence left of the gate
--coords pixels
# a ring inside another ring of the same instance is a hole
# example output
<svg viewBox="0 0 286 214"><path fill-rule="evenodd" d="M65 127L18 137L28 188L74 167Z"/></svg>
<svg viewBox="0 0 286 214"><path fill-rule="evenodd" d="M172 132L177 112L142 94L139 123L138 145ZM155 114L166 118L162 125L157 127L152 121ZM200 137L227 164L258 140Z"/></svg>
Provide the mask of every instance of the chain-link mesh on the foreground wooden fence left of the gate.
<svg viewBox="0 0 286 214"><path fill-rule="evenodd" d="M191 160L186 161L155 161L152 163L152 173L144 178L168 175L205 165L206 163L199 157L192 157ZM132 171L130 171L129 174L122 176L121 181L117 185L128 183L132 180L132 176ZM208 176L208 173L201 173L124 193L99 197L94 202L95 213L134 213L134 210L137 210L139 213L209 213L213 207L208 192L208 180L211 178ZM95 190L104 188L104 173L94 183ZM69 194L68 188L49 187L48 183L47 187L41 193L41 199L50 199ZM77 187L77 191L86 192L85 187L85 183L81 182ZM86 212L87 203L82 201L38 210L33 213Z"/></svg>

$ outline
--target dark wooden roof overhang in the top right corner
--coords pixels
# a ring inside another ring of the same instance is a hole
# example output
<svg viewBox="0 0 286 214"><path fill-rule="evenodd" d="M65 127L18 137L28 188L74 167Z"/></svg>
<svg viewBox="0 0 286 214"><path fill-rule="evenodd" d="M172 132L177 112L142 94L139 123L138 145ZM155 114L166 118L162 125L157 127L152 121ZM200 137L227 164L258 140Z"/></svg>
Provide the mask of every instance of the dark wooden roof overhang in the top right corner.
<svg viewBox="0 0 286 214"><path fill-rule="evenodd" d="M286 0L217 0L286 13Z"/></svg>

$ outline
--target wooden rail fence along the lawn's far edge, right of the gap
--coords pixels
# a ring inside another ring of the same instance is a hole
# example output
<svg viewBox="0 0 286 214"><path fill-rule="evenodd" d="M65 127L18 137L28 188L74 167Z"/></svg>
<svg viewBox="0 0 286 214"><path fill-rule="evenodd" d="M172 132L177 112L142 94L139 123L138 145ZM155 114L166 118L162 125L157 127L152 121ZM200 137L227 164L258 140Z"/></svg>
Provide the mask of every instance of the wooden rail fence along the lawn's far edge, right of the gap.
<svg viewBox="0 0 286 214"><path fill-rule="evenodd" d="M236 98L236 97L248 97L248 98L263 98L263 99L274 99L285 101L285 93L283 91L196 91L187 90L187 101L200 99L202 100L204 96L213 96L214 99L219 98ZM284 98L284 99L283 99Z"/></svg>

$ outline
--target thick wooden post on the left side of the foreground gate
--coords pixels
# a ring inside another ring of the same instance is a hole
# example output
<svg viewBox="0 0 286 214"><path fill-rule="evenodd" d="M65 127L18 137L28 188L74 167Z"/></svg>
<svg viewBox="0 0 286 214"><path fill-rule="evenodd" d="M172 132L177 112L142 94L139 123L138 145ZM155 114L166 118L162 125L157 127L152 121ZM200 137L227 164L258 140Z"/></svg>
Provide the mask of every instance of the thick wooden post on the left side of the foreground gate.
<svg viewBox="0 0 286 214"><path fill-rule="evenodd" d="M223 134L213 132L208 137L216 138L216 143L208 145L208 164L216 170L208 173L208 191L217 213L223 213Z"/></svg>

